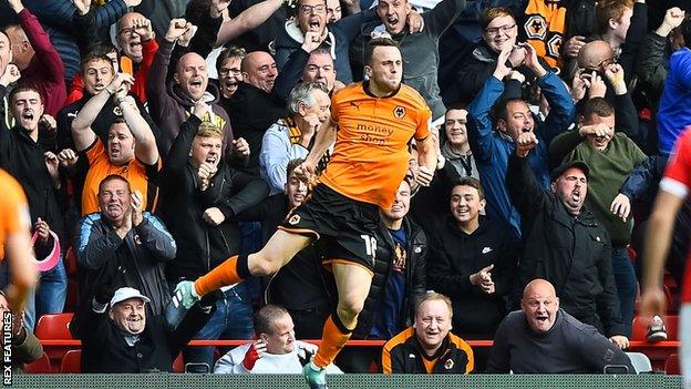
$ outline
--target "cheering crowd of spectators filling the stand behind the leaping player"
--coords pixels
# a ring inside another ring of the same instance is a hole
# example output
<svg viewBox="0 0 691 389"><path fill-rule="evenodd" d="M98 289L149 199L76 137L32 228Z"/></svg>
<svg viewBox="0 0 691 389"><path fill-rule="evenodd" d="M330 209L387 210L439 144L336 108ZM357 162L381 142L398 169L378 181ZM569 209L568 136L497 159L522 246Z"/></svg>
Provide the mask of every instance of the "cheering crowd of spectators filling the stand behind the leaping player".
<svg viewBox="0 0 691 389"><path fill-rule="evenodd" d="M296 336L320 338L338 305L319 242L272 276L206 296L179 325L165 307L176 284L261 247L309 197L295 171L330 96L368 83L367 44L385 37L432 111L440 156L421 187L410 145L364 243L374 270L352 339L386 346L347 349L337 365L601 370L535 351L535 334L553 331L630 367L619 349L642 228L691 125L689 11L681 0L0 0L0 167L27 194L35 256L58 256L16 339L72 309L84 371L171 371L184 350L206 371L299 372L314 348ZM215 362L213 348L185 348L192 338L255 340ZM513 347L524 348L502 354Z"/></svg>

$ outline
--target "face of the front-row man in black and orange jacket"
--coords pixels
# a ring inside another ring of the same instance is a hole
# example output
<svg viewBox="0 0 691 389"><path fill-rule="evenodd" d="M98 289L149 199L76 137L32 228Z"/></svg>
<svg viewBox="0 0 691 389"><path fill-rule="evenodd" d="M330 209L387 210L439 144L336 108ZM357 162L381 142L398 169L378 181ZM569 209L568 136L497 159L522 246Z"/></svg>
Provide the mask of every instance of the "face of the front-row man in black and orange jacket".
<svg viewBox="0 0 691 389"><path fill-rule="evenodd" d="M443 300L427 300L415 315L415 336L425 349L440 347L451 330L451 310Z"/></svg>

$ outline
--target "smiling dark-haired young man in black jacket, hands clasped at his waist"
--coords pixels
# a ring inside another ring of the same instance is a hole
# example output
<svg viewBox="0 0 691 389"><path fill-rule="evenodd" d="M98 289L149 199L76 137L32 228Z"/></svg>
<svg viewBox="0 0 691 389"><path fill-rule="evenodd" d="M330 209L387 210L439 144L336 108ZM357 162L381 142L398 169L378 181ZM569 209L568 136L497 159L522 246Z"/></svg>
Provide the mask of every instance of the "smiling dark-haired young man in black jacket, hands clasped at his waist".
<svg viewBox="0 0 691 389"><path fill-rule="evenodd" d="M454 332L464 339L492 339L506 315L518 245L508 225L479 212L485 195L479 181L464 177L451 191L451 216L430 239L427 286L451 298ZM475 352L475 371L484 371L488 350Z"/></svg>

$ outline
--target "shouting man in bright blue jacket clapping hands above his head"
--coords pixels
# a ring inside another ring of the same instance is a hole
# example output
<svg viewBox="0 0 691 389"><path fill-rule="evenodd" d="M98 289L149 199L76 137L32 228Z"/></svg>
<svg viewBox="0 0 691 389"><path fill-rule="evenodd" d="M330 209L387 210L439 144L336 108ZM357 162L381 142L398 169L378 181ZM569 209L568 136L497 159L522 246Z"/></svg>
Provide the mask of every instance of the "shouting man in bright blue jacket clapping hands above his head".
<svg viewBox="0 0 691 389"><path fill-rule="evenodd" d="M513 28L516 28L515 24ZM467 106L468 141L485 188L487 216L510 224L516 236L520 236L520 216L512 204L505 182L507 161L514 152L516 140L524 133L536 134L539 139L539 144L536 143L536 150L527 160L539 185L547 188L547 146L557 134L571 125L576 112L561 79L543 68L532 45L526 45L525 50L527 54L523 61L537 75L537 83L549 103L550 110L545 121L535 119L523 99L502 100L504 80L523 78L507 65L513 55L513 47L503 49L494 73L487 78L483 89ZM493 110L494 115L491 114Z"/></svg>

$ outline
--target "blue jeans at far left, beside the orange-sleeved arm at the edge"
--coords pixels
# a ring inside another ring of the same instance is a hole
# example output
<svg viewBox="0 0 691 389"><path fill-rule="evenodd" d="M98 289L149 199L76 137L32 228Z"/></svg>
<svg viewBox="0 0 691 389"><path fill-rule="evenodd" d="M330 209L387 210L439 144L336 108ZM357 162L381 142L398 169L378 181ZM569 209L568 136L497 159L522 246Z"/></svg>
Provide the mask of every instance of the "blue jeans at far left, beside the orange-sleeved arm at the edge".
<svg viewBox="0 0 691 389"><path fill-rule="evenodd" d="M31 290L24 310L24 327L33 331L41 315L62 314L68 297L68 273L61 255L58 265L48 272L41 272L38 290Z"/></svg>

